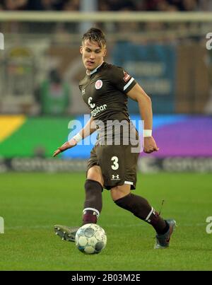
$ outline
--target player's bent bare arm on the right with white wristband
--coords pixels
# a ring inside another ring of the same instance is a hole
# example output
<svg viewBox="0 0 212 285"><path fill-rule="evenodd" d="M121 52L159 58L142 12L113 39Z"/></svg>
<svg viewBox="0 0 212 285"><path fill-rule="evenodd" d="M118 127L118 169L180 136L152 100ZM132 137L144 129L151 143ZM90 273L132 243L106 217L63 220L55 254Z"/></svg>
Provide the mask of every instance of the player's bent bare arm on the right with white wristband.
<svg viewBox="0 0 212 285"><path fill-rule="evenodd" d="M158 146L151 134L151 131L153 129L153 110L151 98L146 94L145 91L143 91L143 88L141 88L138 83L136 83L136 85L131 88L131 90L126 93L126 95L128 95L131 99L137 101L139 104L139 112L143 120L143 151L145 153L158 151Z"/></svg>

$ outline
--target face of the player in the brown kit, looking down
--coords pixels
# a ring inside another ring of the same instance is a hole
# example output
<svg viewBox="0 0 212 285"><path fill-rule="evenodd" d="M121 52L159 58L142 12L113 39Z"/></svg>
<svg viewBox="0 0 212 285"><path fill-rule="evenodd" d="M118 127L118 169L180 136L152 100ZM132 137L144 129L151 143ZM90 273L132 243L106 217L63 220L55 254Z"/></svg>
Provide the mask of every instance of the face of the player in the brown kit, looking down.
<svg viewBox="0 0 212 285"><path fill-rule="evenodd" d="M85 40L83 46L80 49L83 57L83 64L86 69L92 71L102 64L106 50L98 45L98 42L91 42Z"/></svg>

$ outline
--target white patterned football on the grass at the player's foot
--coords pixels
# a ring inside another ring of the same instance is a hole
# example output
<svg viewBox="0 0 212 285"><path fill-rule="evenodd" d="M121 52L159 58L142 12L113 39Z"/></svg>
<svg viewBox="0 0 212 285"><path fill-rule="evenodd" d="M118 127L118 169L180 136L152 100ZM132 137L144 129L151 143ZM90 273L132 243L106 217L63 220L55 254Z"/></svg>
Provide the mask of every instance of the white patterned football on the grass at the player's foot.
<svg viewBox="0 0 212 285"><path fill-rule="evenodd" d="M75 243L83 253L100 253L107 243L107 236L103 228L95 223L87 223L76 232Z"/></svg>

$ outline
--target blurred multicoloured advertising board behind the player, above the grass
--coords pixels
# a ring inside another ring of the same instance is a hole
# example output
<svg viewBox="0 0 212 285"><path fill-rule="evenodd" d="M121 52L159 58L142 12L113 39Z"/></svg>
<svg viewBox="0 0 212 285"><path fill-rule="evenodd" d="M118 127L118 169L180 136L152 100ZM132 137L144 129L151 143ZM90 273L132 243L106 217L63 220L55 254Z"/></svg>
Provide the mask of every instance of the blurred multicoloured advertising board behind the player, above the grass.
<svg viewBox="0 0 212 285"><path fill-rule="evenodd" d="M140 117L131 115L131 120L137 126ZM76 122L78 128L86 123L83 116L71 120L69 117L0 116L0 172L86 170L95 133L81 145L52 158L54 150L78 132ZM139 170L212 172L211 129L211 116L155 115L153 136L160 150L152 154L141 152Z"/></svg>

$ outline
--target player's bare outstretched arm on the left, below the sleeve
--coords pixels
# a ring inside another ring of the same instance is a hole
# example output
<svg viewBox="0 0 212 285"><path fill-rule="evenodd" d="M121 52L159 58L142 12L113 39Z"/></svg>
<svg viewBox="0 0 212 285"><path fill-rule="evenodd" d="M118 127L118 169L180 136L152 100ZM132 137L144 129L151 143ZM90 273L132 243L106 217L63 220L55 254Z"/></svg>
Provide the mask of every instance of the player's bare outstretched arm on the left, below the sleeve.
<svg viewBox="0 0 212 285"><path fill-rule="evenodd" d="M81 139L85 139L86 136L90 136L90 134L93 134L95 132L95 123L93 120L93 117L90 117L90 120L87 122L85 127L81 129L78 134L73 136L69 141L66 141L62 146L60 146L56 151L54 151L53 156L57 156L59 153L66 151L67 149L71 149L73 146L76 146L78 144L78 141L81 141Z"/></svg>

